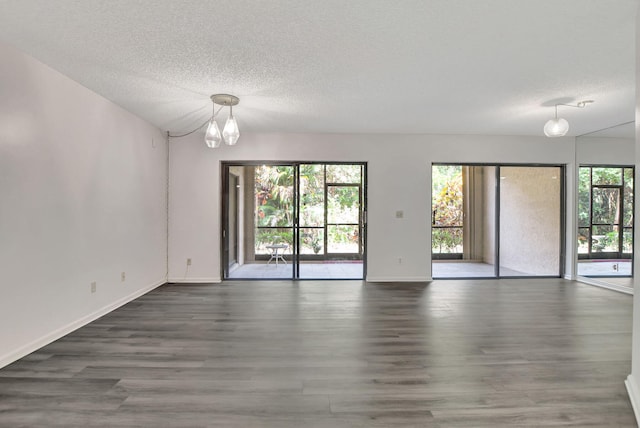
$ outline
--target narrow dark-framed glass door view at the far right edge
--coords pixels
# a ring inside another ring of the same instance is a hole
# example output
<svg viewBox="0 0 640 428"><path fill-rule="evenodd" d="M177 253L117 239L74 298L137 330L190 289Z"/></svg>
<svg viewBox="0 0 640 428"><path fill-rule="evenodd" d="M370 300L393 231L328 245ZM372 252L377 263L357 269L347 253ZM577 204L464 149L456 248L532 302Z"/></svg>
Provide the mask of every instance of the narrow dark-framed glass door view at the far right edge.
<svg viewBox="0 0 640 428"><path fill-rule="evenodd" d="M633 176L633 167L580 167L578 275L632 276Z"/></svg>

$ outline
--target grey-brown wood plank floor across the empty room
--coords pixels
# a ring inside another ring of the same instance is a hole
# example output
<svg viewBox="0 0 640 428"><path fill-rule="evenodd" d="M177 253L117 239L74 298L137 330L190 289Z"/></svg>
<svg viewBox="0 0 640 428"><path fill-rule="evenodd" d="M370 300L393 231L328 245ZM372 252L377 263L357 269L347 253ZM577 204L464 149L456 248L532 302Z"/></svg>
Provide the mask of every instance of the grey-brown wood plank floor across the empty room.
<svg viewBox="0 0 640 428"><path fill-rule="evenodd" d="M633 427L631 317L559 279L165 285L0 370L0 426Z"/></svg>

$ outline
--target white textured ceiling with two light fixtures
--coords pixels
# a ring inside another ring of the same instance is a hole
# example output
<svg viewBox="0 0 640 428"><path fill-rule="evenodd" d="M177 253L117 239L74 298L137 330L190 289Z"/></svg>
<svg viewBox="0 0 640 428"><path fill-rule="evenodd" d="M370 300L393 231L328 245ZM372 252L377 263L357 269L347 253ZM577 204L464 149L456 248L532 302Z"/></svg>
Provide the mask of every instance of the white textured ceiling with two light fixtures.
<svg viewBox="0 0 640 428"><path fill-rule="evenodd" d="M0 0L0 41L163 130L580 135L635 115L637 0Z"/></svg>

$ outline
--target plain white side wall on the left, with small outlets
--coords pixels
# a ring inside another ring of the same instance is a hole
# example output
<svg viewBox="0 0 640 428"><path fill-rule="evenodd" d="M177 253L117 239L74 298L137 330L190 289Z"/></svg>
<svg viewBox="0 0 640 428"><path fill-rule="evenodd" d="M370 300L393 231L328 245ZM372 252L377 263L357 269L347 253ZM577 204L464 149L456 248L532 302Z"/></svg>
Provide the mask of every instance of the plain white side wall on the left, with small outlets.
<svg viewBox="0 0 640 428"><path fill-rule="evenodd" d="M166 143L32 58L0 58L2 367L165 282Z"/></svg>

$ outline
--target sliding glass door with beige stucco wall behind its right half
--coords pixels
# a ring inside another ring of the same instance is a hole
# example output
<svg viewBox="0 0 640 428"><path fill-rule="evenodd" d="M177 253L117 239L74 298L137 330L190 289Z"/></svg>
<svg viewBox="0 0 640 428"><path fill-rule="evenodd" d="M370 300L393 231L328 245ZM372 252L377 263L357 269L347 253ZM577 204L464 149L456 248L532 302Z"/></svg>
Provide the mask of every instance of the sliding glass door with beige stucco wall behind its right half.
<svg viewBox="0 0 640 428"><path fill-rule="evenodd" d="M561 275L562 166L432 167L432 276Z"/></svg>

